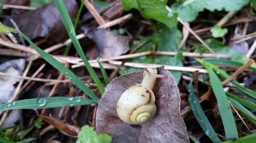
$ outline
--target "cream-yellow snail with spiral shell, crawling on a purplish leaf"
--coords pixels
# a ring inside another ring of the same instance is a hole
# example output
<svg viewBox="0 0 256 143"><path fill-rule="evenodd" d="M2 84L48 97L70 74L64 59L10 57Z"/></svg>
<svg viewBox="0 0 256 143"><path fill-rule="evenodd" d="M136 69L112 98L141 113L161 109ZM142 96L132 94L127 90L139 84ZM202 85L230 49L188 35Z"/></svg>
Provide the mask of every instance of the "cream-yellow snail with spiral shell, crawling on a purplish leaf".
<svg viewBox="0 0 256 143"><path fill-rule="evenodd" d="M145 69L142 82L128 88L117 102L118 117L127 124L142 124L152 119L157 107L153 88L156 78L164 77L157 74L157 69Z"/></svg>

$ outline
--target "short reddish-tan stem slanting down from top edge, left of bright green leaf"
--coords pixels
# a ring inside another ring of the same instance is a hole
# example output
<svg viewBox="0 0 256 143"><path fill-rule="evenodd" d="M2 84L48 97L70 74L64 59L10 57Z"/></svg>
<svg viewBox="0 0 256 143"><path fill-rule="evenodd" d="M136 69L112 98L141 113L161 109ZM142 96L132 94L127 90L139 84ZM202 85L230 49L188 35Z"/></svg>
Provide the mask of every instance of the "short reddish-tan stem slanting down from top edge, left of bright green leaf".
<svg viewBox="0 0 256 143"><path fill-rule="evenodd" d="M84 3L84 6L86 6L86 8L90 11L90 13L93 15L93 17L100 26L105 24L104 19L99 15L97 10L88 0L86 0L86 2Z"/></svg>

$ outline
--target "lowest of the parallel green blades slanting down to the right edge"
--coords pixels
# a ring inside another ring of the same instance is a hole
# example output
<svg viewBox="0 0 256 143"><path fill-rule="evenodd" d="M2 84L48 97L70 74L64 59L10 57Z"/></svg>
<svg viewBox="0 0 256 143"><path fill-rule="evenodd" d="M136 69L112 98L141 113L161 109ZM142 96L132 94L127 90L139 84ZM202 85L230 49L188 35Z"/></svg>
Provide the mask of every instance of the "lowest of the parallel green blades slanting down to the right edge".
<svg viewBox="0 0 256 143"><path fill-rule="evenodd" d="M239 102L237 102L236 100L228 97L228 100L232 103L232 105L238 109L242 115L244 117L246 117L247 119L253 121L253 122L256 122L256 117L253 115L252 112L250 112L248 109L246 109L243 105L241 105Z"/></svg>

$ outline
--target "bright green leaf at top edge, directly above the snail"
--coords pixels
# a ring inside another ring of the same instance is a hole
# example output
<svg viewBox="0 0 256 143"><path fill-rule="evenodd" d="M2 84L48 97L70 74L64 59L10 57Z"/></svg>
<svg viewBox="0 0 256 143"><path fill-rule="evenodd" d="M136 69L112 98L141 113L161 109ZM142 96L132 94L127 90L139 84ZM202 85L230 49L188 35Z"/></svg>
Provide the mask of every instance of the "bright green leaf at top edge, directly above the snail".
<svg viewBox="0 0 256 143"><path fill-rule="evenodd" d="M170 16L168 15L168 11L165 9L167 0L121 0L121 3L124 10L128 11L131 9L137 9L144 18L159 21L170 29L177 25L177 14Z"/></svg>

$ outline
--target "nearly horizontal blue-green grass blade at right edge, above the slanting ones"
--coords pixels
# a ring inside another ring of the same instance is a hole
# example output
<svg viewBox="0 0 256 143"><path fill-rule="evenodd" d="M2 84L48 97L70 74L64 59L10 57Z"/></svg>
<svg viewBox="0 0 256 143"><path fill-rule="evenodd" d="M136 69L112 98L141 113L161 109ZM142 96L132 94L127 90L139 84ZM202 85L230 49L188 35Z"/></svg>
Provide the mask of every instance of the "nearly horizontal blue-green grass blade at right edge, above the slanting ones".
<svg viewBox="0 0 256 143"><path fill-rule="evenodd" d="M234 61L231 61L228 59L204 58L204 61L207 61L214 65L234 66L234 67L239 67L239 68L244 65L242 63L234 62ZM256 69L253 67L248 67L248 69L256 72Z"/></svg>

